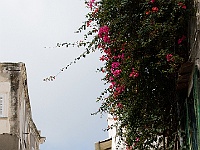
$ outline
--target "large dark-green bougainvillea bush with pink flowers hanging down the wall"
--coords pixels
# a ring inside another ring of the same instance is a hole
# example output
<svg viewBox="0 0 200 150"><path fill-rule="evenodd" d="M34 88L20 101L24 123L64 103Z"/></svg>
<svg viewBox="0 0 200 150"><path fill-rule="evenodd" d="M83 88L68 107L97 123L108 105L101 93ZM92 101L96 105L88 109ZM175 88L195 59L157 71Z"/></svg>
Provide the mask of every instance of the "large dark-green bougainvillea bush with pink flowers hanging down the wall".
<svg viewBox="0 0 200 150"><path fill-rule="evenodd" d="M102 53L99 71L108 88L97 100L102 102L98 112L117 116L119 135L130 149L173 149L179 130L176 79L188 60L190 4L90 0L86 5L90 12L78 32L88 33L77 43L86 52L75 61L92 51Z"/></svg>

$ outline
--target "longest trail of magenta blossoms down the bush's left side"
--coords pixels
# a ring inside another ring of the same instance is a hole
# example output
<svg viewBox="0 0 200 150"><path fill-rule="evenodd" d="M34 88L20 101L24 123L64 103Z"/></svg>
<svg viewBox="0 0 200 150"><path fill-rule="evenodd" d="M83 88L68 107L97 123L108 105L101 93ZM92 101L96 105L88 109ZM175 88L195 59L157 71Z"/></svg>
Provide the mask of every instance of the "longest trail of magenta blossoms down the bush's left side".
<svg viewBox="0 0 200 150"><path fill-rule="evenodd" d="M98 48L102 49L103 52L105 53L100 57L100 60L111 63L110 66L107 66L107 68L105 68L106 71L110 72L106 75L106 78L109 81L109 83L111 83L109 88L113 91L113 98L117 99L117 97L120 94L122 94L125 90L125 86L120 82L118 83L118 81L121 80L121 74L123 73L122 64L123 61L126 59L124 54L126 43L122 44L120 53L118 53L117 55L113 54L113 52L115 53L118 51L117 49L113 49L111 53L111 49L109 47L109 44L111 43L109 32L110 28L107 25L104 25L99 28L98 37L102 39L103 42L99 43ZM130 73L129 77L136 78L138 76L139 76L138 71L132 68L132 72ZM122 108L121 107L122 104L121 103L118 104L120 104L120 107L118 108Z"/></svg>

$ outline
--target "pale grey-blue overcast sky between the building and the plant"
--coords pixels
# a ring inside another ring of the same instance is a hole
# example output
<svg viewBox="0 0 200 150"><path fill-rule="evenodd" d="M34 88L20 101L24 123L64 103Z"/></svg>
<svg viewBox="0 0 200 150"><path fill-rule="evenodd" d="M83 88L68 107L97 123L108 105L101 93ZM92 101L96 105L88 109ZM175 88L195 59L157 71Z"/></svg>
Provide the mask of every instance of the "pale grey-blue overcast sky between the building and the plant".
<svg viewBox="0 0 200 150"><path fill-rule="evenodd" d="M0 61L26 64L33 120L47 138L41 150L93 150L108 137L106 116L90 115L105 88L103 75L96 73L100 53L72 65L54 82L43 81L84 51L44 47L81 40L74 32L87 11L84 0L0 1Z"/></svg>

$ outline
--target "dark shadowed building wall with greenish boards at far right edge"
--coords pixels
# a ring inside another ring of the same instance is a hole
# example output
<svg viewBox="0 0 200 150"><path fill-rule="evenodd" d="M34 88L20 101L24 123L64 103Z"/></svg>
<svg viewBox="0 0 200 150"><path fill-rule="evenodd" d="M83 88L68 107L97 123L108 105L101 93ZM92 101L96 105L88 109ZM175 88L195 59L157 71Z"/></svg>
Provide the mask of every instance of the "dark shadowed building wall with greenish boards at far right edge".
<svg viewBox="0 0 200 150"><path fill-rule="evenodd" d="M186 133L183 145L189 150L200 150L200 0L191 1L196 15L189 23L189 60L180 68L179 80L182 81L179 98L183 102L180 113L181 127ZM185 95L185 94L186 95Z"/></svg>

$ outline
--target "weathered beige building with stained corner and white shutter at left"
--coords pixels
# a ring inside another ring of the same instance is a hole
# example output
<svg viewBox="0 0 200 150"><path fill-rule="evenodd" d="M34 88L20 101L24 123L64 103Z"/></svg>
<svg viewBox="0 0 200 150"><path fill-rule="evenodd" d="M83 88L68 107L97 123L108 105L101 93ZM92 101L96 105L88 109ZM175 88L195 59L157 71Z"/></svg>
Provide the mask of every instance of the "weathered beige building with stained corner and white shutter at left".
<svg viewBox="0 0 200 150"><path fill-rule="evenodd" d="M0 63L0 150L39 150L24 63Z"/></svg>

